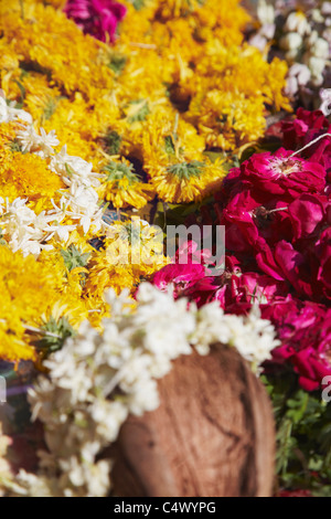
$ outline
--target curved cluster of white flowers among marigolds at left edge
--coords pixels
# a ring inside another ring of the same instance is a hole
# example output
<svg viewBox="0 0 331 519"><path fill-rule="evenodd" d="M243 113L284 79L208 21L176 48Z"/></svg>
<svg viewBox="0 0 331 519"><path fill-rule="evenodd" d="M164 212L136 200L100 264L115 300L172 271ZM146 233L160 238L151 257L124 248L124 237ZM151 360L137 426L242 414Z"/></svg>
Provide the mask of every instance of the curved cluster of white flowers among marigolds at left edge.
<svg viewBox="0 0 331 519"><path fill-rule="evenodd" d="M49 134L43 128L40 134L35 130L32 117L24 110L8 105L0 97L0 124L10 120L19 120L20 127L15 134L23 152L35 153L47 161L51 171L61 177L67 189L63 189L58 206L52 201L54 209L43 211L36 215L26 206L28 199L15 199L11 204L0 200L0 230L11 248L22 251L24 255L38 256L42 248L52 248L45 242L53 236L60 241L66 241L68 233L82 226L86 234L93 226L95 232L106 230L108 225L103 220L104 211L100 208L98 194L95 190L99 186L98 178L102 174L92 171L93 166L79 157L70 156L66 146L57 153L54 148L60 141L55 131ZM24 124L22 124L24 121ZM61 225L68 218L75 224Z"/></svg>

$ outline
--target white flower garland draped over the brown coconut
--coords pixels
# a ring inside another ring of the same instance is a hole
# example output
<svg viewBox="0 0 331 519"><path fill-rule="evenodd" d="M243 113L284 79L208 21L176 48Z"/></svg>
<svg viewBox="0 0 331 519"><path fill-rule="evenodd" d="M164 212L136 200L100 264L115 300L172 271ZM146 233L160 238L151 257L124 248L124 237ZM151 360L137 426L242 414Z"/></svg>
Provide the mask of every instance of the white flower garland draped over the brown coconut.
<svg viewBox="0 0 331 519"><path fill-rule="evenodd" d="M103 449L114 442L129 413L159 405L157 379L171 361L195 348L207 354L217 342L234 346L255 367L279 345L269 321L255 308L248 317L224 315L217 303L197 309L149 283L139 287L132 313L127 293L107 295L111 318L98 333L87 322L44 362L29 401L33 420L45 425L49 452L39 475L19 474L25 495L106 496L111 463Z"/></svg>

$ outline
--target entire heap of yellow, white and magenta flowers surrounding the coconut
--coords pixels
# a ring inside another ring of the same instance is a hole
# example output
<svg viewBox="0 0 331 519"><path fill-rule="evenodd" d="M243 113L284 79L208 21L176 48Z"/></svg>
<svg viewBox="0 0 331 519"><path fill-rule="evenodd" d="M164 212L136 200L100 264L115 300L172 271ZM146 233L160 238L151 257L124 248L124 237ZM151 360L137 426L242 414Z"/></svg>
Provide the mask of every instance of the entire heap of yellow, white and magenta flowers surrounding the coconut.
<svg viewBox="0 0 331 519"><path fill-rule="evenodd" d="M284 30L327 65L296 9ZM273 17L237 0L1 6L3 422L38 420L43 448L12 464L1 436L0 495L108 496L103 451L157 409L174 359L216 342L273 401L275 495L331 495L330 93L291 115L300 55L273 57ZM168 223L224 226L222 264L194 241L168 257Z"/></svg>

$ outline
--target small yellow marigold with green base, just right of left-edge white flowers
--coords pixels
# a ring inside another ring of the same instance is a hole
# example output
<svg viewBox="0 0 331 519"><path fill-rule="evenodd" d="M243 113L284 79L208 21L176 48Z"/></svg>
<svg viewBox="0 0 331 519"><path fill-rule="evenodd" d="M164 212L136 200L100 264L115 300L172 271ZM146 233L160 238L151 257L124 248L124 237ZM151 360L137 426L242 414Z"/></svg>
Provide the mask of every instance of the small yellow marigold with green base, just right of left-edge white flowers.
<svg viewBox="0 0 331 519"><path fill-rule="evenodd" d="M132 205L140 209L154 195L153 188L141 181L134 165L122 159L121 162L108 161L103 171L106 179L99 189L100 195L110 201L116 209Z"/></svg>

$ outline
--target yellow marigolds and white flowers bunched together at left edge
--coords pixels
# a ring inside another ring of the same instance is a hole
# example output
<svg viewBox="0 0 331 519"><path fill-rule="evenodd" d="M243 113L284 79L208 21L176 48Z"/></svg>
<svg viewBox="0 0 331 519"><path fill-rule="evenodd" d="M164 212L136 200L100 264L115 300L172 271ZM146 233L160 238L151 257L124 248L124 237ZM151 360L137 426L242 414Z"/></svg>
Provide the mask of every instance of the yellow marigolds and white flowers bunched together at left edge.
<svg viewBox="0 0 331 519"><path fill-rule="evenodd" d="M57 150L54 131L38 131L3 97L0 109L0 356L17 362L60 348L86 318L99 327L106 288L134 293L168 260L146 221L136 223L137 243L127 240L128 222L106 223L92 163Z"/></svg>

